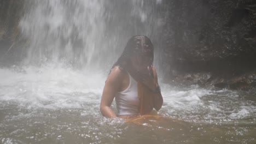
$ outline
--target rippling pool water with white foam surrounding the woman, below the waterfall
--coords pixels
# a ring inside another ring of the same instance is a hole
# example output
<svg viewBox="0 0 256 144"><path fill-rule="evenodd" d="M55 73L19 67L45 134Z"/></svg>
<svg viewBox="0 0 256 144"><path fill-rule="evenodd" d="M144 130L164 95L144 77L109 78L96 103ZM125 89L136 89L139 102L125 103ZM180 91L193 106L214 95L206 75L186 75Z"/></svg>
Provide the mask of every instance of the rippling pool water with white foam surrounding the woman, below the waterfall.
<svg viewBox="0 0 256 144"><path fill-rule="evenodd" d="M163 118L99 111L107 73L63 65L0 69L2 143L255 143L255 92L161 83ZM113 109L115 104L113 103Z"/></svg>

